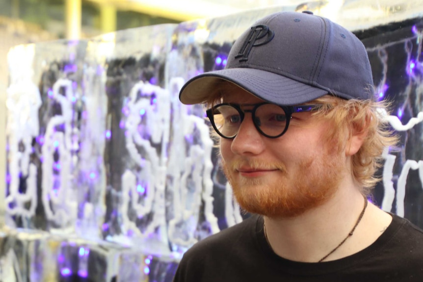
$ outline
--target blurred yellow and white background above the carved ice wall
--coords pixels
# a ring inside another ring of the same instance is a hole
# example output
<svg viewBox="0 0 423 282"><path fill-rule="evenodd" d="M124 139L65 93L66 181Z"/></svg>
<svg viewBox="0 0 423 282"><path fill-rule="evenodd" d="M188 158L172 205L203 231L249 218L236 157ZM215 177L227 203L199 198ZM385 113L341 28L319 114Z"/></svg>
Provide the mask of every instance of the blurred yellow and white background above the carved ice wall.
<svg viewBox="0 0 423 282"><path fill-rule="evenodd" d="M254 8L300 5L302 2L304 1L0 0L0 152L5 152L7 52L13 46L57 39L90 38L116 30L214 18ZM5 161L5 157L0 157L0 172L5 171ZM4 178L4 173L0 173L0 183L5 183ZM1 187L0 190L3 189ZM2 203L3 199L0 200L0 204Z"/></svg>

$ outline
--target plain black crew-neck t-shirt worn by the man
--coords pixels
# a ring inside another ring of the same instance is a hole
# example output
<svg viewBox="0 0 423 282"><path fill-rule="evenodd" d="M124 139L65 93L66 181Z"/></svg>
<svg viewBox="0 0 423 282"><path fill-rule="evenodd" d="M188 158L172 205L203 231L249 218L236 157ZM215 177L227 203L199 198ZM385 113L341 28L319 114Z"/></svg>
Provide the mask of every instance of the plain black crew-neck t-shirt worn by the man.
<svg viewBox="0 0 423 282"><path fill-rule="evenodd" d="M392 216L369 247L317 263L276 255L265 240L263 217L252 216L190 248L174 282L423 282L423 231Z"/></svg>

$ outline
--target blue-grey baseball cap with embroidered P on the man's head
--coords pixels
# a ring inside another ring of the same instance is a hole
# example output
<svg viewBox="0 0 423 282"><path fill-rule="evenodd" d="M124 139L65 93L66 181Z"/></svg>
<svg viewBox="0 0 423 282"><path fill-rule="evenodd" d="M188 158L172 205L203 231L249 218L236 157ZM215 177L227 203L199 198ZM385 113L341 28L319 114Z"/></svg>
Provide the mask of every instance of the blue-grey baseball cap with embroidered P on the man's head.
<svg viewBox="0 0 423 282"><path fill-rule="evenodd" d="M179 99L203 103L221 79L280 105L301 104L328 93L374 99L364 45L344 27L308 11L281 12L257 21L236 40L225 69L191 78Z"/></svg>

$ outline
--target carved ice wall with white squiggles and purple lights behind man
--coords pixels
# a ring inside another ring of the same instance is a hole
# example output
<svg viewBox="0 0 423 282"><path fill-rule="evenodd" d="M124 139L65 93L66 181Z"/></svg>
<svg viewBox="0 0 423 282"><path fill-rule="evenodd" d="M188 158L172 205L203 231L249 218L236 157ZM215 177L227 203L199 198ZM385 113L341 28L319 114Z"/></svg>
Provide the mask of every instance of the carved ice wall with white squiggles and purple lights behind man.
<svg viewBox="0 0 423 282"><path fill-rule="evenodd" d="M178 93L224 68L256 19L302 9L367 47L377 95L395 108L380 114L402 140L384 154L374 201L423 227L423 5L309 2L12 48L0 281L168 282L187 248L248 216L204 109Z"/></svg>

